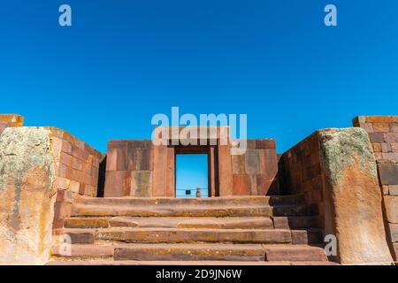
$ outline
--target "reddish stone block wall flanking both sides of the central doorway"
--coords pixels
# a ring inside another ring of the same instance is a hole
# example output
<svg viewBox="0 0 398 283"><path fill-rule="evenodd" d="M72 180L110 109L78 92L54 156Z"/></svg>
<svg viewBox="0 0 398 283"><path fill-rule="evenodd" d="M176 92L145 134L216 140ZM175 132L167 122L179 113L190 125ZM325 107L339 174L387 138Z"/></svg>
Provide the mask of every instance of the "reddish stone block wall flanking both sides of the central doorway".
<svg viewBox="0 0 398 283"><path fill-rule="evenodd" d="M249 140L245 154L232 155L231 146L219 142L223 131L228 133L226 127L215 128L214 145L209 140L201 145L200 139L188 147L154 145L150 140L110 141L104 196L174 197L175 155L181 152L208 154L211 196L278 194L275 140Z"/></svg>

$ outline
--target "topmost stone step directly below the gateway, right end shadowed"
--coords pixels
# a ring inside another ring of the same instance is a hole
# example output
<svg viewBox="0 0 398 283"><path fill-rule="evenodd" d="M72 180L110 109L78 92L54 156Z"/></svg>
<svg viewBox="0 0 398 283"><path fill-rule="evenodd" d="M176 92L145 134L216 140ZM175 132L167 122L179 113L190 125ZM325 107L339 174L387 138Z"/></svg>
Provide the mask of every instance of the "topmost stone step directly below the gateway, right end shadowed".
<svg viewBox="0 0 398 283"><path fill-rule="evenodd" d="M89 197L80 195L76 203L94 206L273 206L304 204L304 195L220 196L208 198L172 197Z"/></svg>

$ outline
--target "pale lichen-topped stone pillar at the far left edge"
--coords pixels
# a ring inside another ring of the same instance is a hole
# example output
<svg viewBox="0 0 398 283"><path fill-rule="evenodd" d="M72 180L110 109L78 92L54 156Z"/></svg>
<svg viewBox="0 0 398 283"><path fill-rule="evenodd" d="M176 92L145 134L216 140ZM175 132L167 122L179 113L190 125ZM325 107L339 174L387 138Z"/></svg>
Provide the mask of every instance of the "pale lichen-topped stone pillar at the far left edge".
<svg viewBox="0 0 398 283"><path fill-rule="evenodd" d="M57 192L50 149L43 128L6 128L0 136L0 264L49 259Z"/></svg>

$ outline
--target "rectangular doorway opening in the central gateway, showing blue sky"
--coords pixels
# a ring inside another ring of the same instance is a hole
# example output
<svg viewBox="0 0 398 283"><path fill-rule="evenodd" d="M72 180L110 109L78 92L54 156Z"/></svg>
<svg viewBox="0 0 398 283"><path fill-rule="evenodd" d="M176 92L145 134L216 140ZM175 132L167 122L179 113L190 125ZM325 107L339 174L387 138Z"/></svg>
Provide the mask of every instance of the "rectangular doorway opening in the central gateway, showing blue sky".
<svg viewBox="0 0 398 283"><path fill-rule="evenodd" d="M199 198L218 195L215 150L210 146L176 147L175 197Z"/></svg>

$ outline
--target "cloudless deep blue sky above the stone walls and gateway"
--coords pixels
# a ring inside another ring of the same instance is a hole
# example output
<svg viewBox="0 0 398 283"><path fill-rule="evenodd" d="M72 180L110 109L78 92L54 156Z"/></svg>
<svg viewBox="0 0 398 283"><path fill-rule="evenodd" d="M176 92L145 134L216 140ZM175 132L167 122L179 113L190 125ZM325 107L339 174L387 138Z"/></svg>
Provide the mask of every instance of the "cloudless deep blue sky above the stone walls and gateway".
<svg viewBox="0 0 398 283"><path fill-rule="evenodd" d="M70 4L73 27L59 27ZM325 27L325 4L338 27ZM396 0L1 1L0 112L106 150L155 113L247 113L279 152L398 114Z"/></svg>

